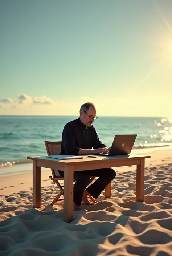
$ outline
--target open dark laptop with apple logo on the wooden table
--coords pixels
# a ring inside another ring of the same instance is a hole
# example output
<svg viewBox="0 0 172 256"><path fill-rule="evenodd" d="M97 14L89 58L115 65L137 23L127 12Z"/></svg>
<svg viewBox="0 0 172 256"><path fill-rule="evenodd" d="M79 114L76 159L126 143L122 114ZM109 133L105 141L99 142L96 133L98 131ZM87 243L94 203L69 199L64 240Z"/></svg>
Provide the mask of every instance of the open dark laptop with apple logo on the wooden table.
<svg viewBox="0 0 172 256"><path fill-rule="evenodd" d="M137 134L115 135L111 149L108 154L98 153L93 155L128 155L131 153Z"/></svg>

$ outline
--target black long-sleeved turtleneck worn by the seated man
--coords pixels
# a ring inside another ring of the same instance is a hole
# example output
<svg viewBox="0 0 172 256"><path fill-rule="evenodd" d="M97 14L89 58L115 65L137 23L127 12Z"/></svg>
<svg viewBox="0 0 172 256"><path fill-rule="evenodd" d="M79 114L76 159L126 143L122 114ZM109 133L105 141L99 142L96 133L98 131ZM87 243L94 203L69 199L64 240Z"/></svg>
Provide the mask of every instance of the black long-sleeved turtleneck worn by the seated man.
<svg viewBox="0 0 172 256"><path fill-rule="evenodd" d="M77 155L80 149L106 147L93 125L86 127L80 118L66 123L62 132L61 155Z"/></svg>

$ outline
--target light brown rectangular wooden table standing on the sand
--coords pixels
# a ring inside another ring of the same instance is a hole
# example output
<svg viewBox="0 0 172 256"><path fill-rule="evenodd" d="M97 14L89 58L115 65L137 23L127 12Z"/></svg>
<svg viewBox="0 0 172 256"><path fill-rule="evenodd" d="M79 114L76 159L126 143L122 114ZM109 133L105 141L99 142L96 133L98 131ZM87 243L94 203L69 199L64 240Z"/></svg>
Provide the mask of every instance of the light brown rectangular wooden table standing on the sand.
<svg viewBox="0 0 172 256"><path fill-rule="evenodd" d="M64 171L64 220L73 220L73 172L99 168L136 165L136 201L144 201L144 155L98 156L60 160L47 156L28 157L33 160L33 207L41 207L41 167ZM103 171L103 170L102 170ZM111 197L111 183L105 188L105 197Z"/></svg>

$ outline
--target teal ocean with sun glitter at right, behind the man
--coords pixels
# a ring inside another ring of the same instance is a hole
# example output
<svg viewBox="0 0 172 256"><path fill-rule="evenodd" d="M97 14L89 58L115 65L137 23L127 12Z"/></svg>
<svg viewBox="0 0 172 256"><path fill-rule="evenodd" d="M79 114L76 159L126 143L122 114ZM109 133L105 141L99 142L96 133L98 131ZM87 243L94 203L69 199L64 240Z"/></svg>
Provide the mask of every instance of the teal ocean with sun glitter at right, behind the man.
<svg viewBox="0 0 172 256"><path fill-rule="evenodd" d="M72 116L0 116L0 167L27 163L28 156L46 155L44 140L61 141ZM115 134L138 134L133 149L172 146L172 118L98 117L99 139L110 147Z"/></svg>

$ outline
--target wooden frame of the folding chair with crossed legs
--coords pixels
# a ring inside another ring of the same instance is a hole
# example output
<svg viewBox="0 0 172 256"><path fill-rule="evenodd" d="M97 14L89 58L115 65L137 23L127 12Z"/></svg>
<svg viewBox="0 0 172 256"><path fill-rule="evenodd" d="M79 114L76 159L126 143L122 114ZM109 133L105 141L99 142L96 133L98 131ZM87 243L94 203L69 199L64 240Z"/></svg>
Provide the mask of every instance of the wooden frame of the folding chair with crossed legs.
<svg viewBox="0 0 172 256"><path fill-rule="evenodd" d="M47 151L47 155L60 155L60 150L61 150L61 141L44 141L45 142L45 147L46 147L46 151ZM50 152L50 146L57 146L57 150L56 152ZM53 154L52 154L53 153ZM58 180L64 180L64 177L60 176L56 177L55 175L55 171L54 169L51 169L52 171L52 176L49 176L50 180L53 180L54 183L57 184L58 188L60 189L60 193L56 196L56 198L53 200L53 202L51 203L51 205L53 205L54 203L56 203L57 201L62 201L64 200L64 185L61 185ZM96 176L90 176L90 181L89 184L96 178ZM75 180L74 180L75 182ZM60 199L60 197L63 196L62 199ZM90 200L94 203L97 203L96 200L91 196L88 195L88 197L90 198Z"/></svg>

